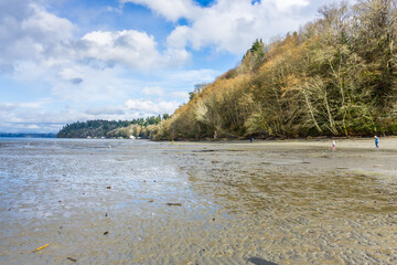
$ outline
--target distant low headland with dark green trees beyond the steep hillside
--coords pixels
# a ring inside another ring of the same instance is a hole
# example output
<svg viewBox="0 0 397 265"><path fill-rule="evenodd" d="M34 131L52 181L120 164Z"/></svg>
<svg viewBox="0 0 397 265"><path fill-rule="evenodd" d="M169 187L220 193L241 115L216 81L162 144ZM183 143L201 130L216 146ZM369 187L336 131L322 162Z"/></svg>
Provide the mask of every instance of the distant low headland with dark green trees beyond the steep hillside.
<svg viewBox="0 0 397 265"><path fill-rule="evenodd" d="M163 114L162 116L152 116L148 118L138 118L132 120L87 120L77 121L65 125L57 138L129 138L130 136L150 138L150 132L155 128L155 125L170 116Z"/></svg>

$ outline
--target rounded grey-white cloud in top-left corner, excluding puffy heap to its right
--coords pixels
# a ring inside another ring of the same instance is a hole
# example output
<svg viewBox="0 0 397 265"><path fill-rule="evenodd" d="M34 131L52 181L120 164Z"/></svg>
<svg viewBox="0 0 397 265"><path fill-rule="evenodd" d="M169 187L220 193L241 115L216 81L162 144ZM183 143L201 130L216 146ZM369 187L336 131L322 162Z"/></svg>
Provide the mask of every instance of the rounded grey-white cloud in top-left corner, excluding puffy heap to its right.
<svg viewBox="0 0 397 265"><path fill-rule="evenodd" d="M6 2L6 1L3 1ZM43 61L57 53L75 26L30 1L0 4L0 71L12 72L18 62Z"/></svg>

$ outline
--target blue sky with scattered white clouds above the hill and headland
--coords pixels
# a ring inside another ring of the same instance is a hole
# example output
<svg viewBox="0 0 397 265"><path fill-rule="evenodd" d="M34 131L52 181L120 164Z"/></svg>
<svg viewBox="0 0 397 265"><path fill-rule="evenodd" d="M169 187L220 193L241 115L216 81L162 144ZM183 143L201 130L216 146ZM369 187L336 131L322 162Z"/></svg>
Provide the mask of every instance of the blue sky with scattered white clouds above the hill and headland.
<svg viewBox="0 0 397 265"><path fill-rule="evenodd" d="M329 0L0 0L0 132L172 114Z"/></svg>

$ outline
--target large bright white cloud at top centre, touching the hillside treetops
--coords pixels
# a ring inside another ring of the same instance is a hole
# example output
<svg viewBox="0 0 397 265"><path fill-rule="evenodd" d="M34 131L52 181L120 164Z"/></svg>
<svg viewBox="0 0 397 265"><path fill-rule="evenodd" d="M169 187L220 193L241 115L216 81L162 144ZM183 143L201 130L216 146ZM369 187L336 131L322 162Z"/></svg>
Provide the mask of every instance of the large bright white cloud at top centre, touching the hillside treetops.
<svg viewBox="0 0 397 265"><path fill-rule="evenodd" d="M153 3L146 4L158 8ZM297 9L308 4L308 0L264 0L255 3L250 0L218 0L210 8L200 8L200 12L187 12L185 17L181 13L181 18L189 19L191 23L176 26L168 36L168 44L194 50L213 46L216 51L240 54L255 39L269 40L281 32L298 30L308 17L301 15Z"/></svg>

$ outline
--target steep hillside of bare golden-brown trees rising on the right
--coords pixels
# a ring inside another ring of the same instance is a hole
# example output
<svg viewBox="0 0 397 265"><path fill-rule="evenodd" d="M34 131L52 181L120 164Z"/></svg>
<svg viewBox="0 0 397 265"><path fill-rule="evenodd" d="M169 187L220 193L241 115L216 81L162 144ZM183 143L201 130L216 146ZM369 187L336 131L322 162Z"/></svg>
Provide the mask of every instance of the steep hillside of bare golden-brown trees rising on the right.
<svg viewBox="0 0 397 265"><path fill-rule="evenodd" d="M257 40L152 138L397 134L396 1L342 2L319 13L298 32Z"/></svg>

